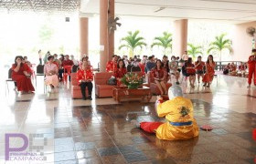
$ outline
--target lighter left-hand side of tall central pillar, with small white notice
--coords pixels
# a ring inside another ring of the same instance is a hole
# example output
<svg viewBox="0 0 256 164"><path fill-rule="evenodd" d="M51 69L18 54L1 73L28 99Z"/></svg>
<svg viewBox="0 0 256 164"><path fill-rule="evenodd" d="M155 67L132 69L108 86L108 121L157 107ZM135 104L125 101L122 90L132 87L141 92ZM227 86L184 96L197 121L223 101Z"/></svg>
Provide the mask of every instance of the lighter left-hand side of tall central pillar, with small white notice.
<svg viewBox="0 0 256 164"><path fill-rule="evenodd" d="M106 71L106 64L109 56L108 45L108 1L100 0L100 71Z"/></svg>

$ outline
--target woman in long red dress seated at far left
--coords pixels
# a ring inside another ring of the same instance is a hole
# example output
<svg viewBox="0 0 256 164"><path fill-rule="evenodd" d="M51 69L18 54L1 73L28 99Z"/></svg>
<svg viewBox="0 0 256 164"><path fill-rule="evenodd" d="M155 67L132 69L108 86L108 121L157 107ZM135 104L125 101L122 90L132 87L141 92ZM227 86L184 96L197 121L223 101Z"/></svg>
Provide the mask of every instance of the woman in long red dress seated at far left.
<svg viewBox="0 0 256 164"><path fill-rule="evenodd" d="M16 56L15 64L12 67L12 79L16 81L17 91L20 91L21 94L32 93L35 91L31 83L31 75L28 73L31 69L27 64L22 63L22 56Z"/></svg>

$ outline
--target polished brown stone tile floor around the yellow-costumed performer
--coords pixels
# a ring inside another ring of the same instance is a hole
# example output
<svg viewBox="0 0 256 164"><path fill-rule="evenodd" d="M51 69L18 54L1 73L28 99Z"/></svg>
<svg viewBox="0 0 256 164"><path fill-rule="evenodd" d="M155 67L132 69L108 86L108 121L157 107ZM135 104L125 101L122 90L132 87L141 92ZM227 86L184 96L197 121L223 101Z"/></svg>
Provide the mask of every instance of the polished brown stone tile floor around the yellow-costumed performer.
<svg viewBox="0 0 256 164"><path fill-rule="evenodd" d="M159 140L130 124L131 119L164 121L156 117L155 97L151 103L73 100L69 85L44 94L41 81L37 77L34 95L16 94L12 83L9 91L0 83L0 163L14 163L5 162L6 133L43 134L48 142L41 150L47 157L43 163L254 163L256 87L248 89L245 78L218 76L207 89L182 84L185 97L193 101L198 126L214 128L186 141ZM10 144L20 147L23 141L13 138Z"/></svg>

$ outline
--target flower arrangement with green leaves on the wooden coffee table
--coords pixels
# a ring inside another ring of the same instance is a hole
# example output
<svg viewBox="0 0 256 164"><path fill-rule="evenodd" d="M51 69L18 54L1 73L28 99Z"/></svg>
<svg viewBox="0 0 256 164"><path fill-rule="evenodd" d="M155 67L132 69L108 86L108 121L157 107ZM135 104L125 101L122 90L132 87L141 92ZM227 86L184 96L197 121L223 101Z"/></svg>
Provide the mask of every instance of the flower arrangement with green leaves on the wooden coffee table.
<svg viewBox="0 0 256 164"><path fill-rule="evenodd" d="M139 76L135 73L127 73L121 79L123 84L128 88L138 88L140 85L144 83L143 77Z"/></svg>

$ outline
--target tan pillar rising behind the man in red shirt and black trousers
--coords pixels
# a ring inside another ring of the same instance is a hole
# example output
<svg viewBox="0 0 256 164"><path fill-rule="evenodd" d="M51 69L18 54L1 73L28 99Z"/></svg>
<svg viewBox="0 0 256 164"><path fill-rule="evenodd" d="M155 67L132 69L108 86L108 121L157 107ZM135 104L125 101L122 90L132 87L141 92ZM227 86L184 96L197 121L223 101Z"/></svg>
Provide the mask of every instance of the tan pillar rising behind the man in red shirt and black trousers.
<svg viewBox="0 0 256 164"><path fill-rule="evenodd" d="M80 17L80 58L88 56L88 17Z"/></svg>

